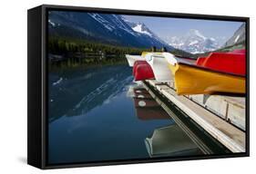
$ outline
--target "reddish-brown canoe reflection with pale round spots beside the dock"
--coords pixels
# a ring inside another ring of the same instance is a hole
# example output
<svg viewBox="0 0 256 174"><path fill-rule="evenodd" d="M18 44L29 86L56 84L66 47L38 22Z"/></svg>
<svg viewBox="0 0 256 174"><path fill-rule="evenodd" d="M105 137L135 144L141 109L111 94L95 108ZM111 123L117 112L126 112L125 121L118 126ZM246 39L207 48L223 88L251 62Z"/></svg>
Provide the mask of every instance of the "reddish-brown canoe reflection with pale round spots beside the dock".
<svg viewBox="0 0 256 174"><path fill-rule="evenodd" d="M143 88L134 88L134 106L139 120L164 120L170 117Z"/></svg>

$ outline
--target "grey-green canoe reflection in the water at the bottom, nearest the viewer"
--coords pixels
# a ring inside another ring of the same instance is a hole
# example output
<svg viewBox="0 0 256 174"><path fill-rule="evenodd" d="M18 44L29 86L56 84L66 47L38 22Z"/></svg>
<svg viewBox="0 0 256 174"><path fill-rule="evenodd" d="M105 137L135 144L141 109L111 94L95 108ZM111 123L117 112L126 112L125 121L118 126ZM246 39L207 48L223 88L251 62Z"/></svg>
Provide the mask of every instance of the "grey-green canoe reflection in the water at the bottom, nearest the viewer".
<svg viewBox="0 0 256 174"><path fill-rule="evenodd" d="M177 124L156 129L151 138L146 138L145 143L150 157L201 154L197 145Z"/></svg>

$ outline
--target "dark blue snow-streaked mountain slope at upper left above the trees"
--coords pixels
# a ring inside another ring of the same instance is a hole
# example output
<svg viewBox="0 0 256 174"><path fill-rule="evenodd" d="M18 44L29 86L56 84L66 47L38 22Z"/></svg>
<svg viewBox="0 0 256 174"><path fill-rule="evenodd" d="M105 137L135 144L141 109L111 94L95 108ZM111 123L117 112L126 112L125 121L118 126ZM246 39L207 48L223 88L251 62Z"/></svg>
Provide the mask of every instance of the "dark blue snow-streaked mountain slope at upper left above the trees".
<svg viewBox="0 0 256 174"><path fill-rule="evenodd" d="M133 47L167 47L145 24L132 24L119 14L51 12L49 34Z"/></svg>

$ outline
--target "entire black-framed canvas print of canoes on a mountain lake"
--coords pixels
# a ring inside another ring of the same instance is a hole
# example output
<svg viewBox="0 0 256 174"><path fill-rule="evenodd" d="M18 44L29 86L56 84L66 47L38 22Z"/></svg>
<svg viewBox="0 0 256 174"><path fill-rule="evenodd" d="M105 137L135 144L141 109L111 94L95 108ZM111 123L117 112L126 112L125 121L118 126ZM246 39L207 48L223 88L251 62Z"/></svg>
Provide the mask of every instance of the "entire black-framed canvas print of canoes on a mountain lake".
<svg viewBox="0 0 256 174"><path fill-rule="evenodd" d="M58 5L27 14L28 164L249 156L249 18Z"/></svg>

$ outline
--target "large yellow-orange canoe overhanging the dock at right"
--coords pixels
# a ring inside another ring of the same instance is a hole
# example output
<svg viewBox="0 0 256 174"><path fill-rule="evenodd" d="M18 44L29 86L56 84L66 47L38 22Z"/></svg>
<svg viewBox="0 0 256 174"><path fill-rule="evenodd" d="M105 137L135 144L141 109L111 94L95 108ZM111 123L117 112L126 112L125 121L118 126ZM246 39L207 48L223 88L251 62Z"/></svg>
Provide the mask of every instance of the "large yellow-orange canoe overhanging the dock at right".
<svg viewBox="0 0 256 174"><path fill-rule="evenodd" d="M179 95L246 92L245 77L186 63L169 63Z"/></svg>

